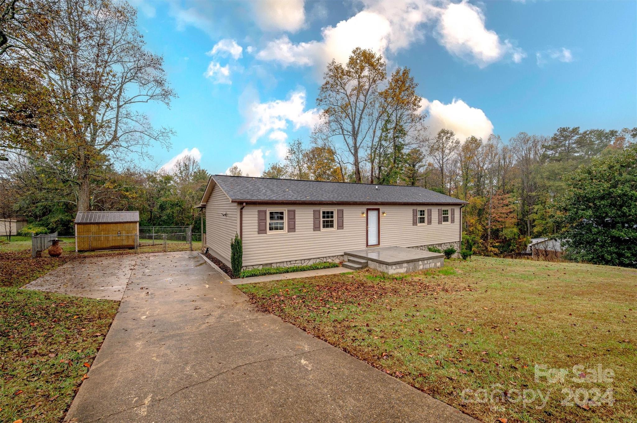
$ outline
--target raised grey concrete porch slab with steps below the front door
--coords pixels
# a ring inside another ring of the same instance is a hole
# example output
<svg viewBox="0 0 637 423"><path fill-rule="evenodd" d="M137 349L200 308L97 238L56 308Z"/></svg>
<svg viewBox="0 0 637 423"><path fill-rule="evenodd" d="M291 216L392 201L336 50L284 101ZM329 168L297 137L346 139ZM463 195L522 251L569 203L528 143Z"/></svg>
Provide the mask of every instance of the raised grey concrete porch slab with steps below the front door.
<svg viewBox="0 0 637 423"><path fill-rule="evenodd" d="M366 260L370 268L388 274L415 272L445 265L445 254L405 247L379 247L345 251L345 258L349 259L350 257Z"/></svg>

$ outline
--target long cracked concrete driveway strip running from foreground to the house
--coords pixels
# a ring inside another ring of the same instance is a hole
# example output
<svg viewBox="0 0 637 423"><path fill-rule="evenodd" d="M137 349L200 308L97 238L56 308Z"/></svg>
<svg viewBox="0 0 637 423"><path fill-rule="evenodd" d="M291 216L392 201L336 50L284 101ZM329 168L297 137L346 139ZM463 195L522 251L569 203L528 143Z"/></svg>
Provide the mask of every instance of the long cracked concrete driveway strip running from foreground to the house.
<svg viewBox="0 0 637 423"><path fill-rule="evenodd" d="M258 312L196 253L137 258L66 420L476 422Z"/></svg>

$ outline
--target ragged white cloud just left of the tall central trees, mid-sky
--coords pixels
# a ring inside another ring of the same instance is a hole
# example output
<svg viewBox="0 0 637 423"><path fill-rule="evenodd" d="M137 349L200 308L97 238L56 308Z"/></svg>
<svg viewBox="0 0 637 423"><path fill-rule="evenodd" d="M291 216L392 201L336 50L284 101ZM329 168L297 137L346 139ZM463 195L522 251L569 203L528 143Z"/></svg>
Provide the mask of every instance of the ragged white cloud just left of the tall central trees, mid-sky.
<svg viewBox="0 0 637 423"><path fill-rule="evenodd" d="M245 111L246 127L250 142L254 144L262 136L269 134L270 139L282 141L282 134L292 123L294 130L301 127L313 128L318 123L318 109L305 110L305 90L290 93L287 100L274 100L261 103L252 101ZM286 135L287 137L287 135Z"/></svg>

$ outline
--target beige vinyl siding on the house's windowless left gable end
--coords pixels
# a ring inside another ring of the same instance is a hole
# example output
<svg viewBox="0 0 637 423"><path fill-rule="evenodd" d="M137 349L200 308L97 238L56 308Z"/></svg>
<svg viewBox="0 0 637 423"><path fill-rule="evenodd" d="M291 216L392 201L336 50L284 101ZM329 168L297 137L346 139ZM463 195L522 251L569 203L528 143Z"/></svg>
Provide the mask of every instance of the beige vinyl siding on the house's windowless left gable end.
<svg viewBox="0 0 637 423"><path fill-rule="evenodd" d="M222 216L226 214L227 216ZM213 249L222 261L230 262L230 242L238 232L237 205L230 201L217 184L206 203L206 247Z"/></svg>

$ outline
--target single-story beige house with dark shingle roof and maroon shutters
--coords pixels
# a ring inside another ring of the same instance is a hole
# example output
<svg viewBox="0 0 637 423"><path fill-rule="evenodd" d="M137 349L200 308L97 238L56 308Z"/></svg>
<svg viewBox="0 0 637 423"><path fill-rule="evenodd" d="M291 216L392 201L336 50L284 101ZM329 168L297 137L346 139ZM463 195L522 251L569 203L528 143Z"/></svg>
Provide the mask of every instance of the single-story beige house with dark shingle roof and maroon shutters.
<svg viewBox="0 0 637 423"><path fill-rule="evenodd" d="M460 250L466 202L417 186L213 175L204 248L230 265L235 234L243 267L343 261L369 247Z"/></svg>

